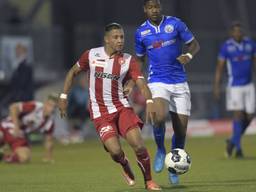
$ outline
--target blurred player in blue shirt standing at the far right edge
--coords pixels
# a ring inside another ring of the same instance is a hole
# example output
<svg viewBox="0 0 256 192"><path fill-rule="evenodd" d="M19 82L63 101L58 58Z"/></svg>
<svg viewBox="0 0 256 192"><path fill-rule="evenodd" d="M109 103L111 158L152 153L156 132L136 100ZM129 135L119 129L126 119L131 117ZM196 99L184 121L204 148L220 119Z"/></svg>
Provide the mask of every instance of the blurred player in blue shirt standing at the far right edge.
<svg viewBox="0 0 256 192"><path fill-rule="evenodd" d="M220 82L224 66L227 66L228 85L226 108L233 112L233 135L227 140L226 155L243 157L241 137L253 119L255 112L255 88L252 83L253 67L256 65L256 46L243 35L239 22L233 22L230 38L221 46L215 73L214 96L220 98Z"/></svg>

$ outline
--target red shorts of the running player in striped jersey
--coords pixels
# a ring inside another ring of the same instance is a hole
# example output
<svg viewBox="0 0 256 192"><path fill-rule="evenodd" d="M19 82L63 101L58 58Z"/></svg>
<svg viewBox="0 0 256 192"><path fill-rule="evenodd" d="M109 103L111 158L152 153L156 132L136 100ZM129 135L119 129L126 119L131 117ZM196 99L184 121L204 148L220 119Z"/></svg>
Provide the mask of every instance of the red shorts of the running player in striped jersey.
<svg viewBox="0 0 256 192"><path fill-rule="evenodd" d="M129 130L143 127L143 122L134 113L133 109L126 107L123 107L118 112L96 118L93 123L103 142L119 135L125 138Z"/></svg>

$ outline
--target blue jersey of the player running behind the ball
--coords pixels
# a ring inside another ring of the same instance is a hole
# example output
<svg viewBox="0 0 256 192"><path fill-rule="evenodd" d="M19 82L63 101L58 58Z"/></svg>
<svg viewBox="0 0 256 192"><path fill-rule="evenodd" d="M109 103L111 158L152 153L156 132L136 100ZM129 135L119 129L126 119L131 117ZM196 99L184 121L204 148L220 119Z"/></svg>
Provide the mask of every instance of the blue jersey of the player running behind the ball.
<svg viewBox="0 0 256 192"><path fill-rule="evenodd" d="M136 55L148 57L148 81L167 84L187 81L184 66L177 60L182 54L183 43L194 39L185 23L171 16L163 16L159 26L149 20L135 34Z"/></svg>

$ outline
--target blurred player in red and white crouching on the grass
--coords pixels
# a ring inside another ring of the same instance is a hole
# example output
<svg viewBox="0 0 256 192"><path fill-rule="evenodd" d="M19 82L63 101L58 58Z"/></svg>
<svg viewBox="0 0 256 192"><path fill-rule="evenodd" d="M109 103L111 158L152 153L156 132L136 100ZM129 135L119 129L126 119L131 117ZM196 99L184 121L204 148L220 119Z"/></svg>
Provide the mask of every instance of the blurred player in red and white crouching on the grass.
<svg viewBox="0 0 256 192"><path fill-rule="evenodd" d="M11 104L9 116L0 122L2 143L9 144L13 152L8 157L9 162L27 162L30 159L26 134L35 131L45 135L43 161L53 162L53 112L57 98L57 96L50 95L44 103L29 101Z"/></svg>

